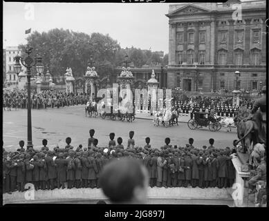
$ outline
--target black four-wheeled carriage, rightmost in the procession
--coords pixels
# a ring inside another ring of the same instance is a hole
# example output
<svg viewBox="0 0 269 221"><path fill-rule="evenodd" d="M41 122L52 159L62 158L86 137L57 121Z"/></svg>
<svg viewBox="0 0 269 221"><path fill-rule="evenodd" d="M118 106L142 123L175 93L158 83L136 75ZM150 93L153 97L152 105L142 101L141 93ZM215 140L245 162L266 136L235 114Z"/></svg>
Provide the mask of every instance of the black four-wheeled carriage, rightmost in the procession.
<svg viewBox="0 0 269 221"><path fill-rule="evenodd" d="M187 126L191 130L197 128L202 128L203 126L208 126L210 131L219 131L221 130L221 117L215 119L214 121L209 119L209 113L206 112L194 112L194 119L189 119Z"/></svg>

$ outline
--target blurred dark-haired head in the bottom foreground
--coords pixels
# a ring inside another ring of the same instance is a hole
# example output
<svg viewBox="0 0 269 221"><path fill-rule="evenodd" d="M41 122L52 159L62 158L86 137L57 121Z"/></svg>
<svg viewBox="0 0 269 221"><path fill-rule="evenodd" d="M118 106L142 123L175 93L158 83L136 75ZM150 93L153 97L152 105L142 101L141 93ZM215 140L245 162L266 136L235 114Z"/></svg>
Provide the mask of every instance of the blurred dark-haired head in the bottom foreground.
<svg viewBox="0 0 269 221"><path fill-rule="evenodd" d="M122 158L104 166L100 186L112 203L144 204L147 200L149 177L138 160Z"/></svg>

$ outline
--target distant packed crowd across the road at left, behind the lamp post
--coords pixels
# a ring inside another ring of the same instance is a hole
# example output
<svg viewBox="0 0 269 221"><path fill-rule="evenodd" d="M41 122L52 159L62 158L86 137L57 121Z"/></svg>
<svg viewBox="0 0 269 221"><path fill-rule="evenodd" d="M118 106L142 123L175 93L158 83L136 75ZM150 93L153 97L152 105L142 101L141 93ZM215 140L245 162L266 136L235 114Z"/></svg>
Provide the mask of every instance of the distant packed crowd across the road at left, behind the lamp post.
<svg viewBox="0 0 269 221"><path fill-rule="evenodd" d="M57 106L74 106L78 104L86 104L89 100L84 94L73 94L66 93L61 91L52 91L52 90L44 90L41 93L37 94L36 91L33 91L31 97L31 107L32 108L54 108ZM28 99L25 90L18 90L13 93L4 92L3 93L3 108L6 111L6 107L8 111L11 111L11 107L15 108L27 108Z"/></svg>

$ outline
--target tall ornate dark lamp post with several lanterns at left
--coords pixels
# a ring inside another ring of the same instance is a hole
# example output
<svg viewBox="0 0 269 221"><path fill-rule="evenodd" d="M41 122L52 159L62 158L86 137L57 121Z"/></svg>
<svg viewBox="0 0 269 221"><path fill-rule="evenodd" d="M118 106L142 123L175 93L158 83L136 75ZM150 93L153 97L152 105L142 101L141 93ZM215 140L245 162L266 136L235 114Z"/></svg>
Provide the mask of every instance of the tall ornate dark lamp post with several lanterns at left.
<svg viewBox="0 0 269 221"><path fill-rule="evenodd" d="M30 68L33 68L35 66L35 69L37 70L37 73L41 75L44 71L44 65L41 63L42 59L41 57L36 57L35 61L30 57L30 53L33 52L33 48L31 48L29 45L26 46L26 54L28 56L23 59L19 55L15 57L15 65L14 70L17 75L21 72L21 64L26 67L27 69L27 99L28 99L28 105L27 105L27 148L33 147L32 142L32 118L31 118L31 90L30 90L30 79L31 79L31 70ZM19 63L21 61L21 64Z"/></svg>

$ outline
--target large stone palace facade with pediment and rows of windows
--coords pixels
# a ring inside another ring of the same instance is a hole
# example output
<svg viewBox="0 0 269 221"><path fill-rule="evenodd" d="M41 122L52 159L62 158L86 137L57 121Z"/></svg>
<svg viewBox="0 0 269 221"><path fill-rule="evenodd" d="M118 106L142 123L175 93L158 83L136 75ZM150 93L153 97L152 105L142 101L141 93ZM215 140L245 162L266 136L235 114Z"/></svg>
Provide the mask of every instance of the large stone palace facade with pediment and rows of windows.
<svg viewBox="0 0 269 221"><path fill-rule="evenodd" d="M266 84L265 0L178 3L166 16L167 88L252 91Z"/></svg>

